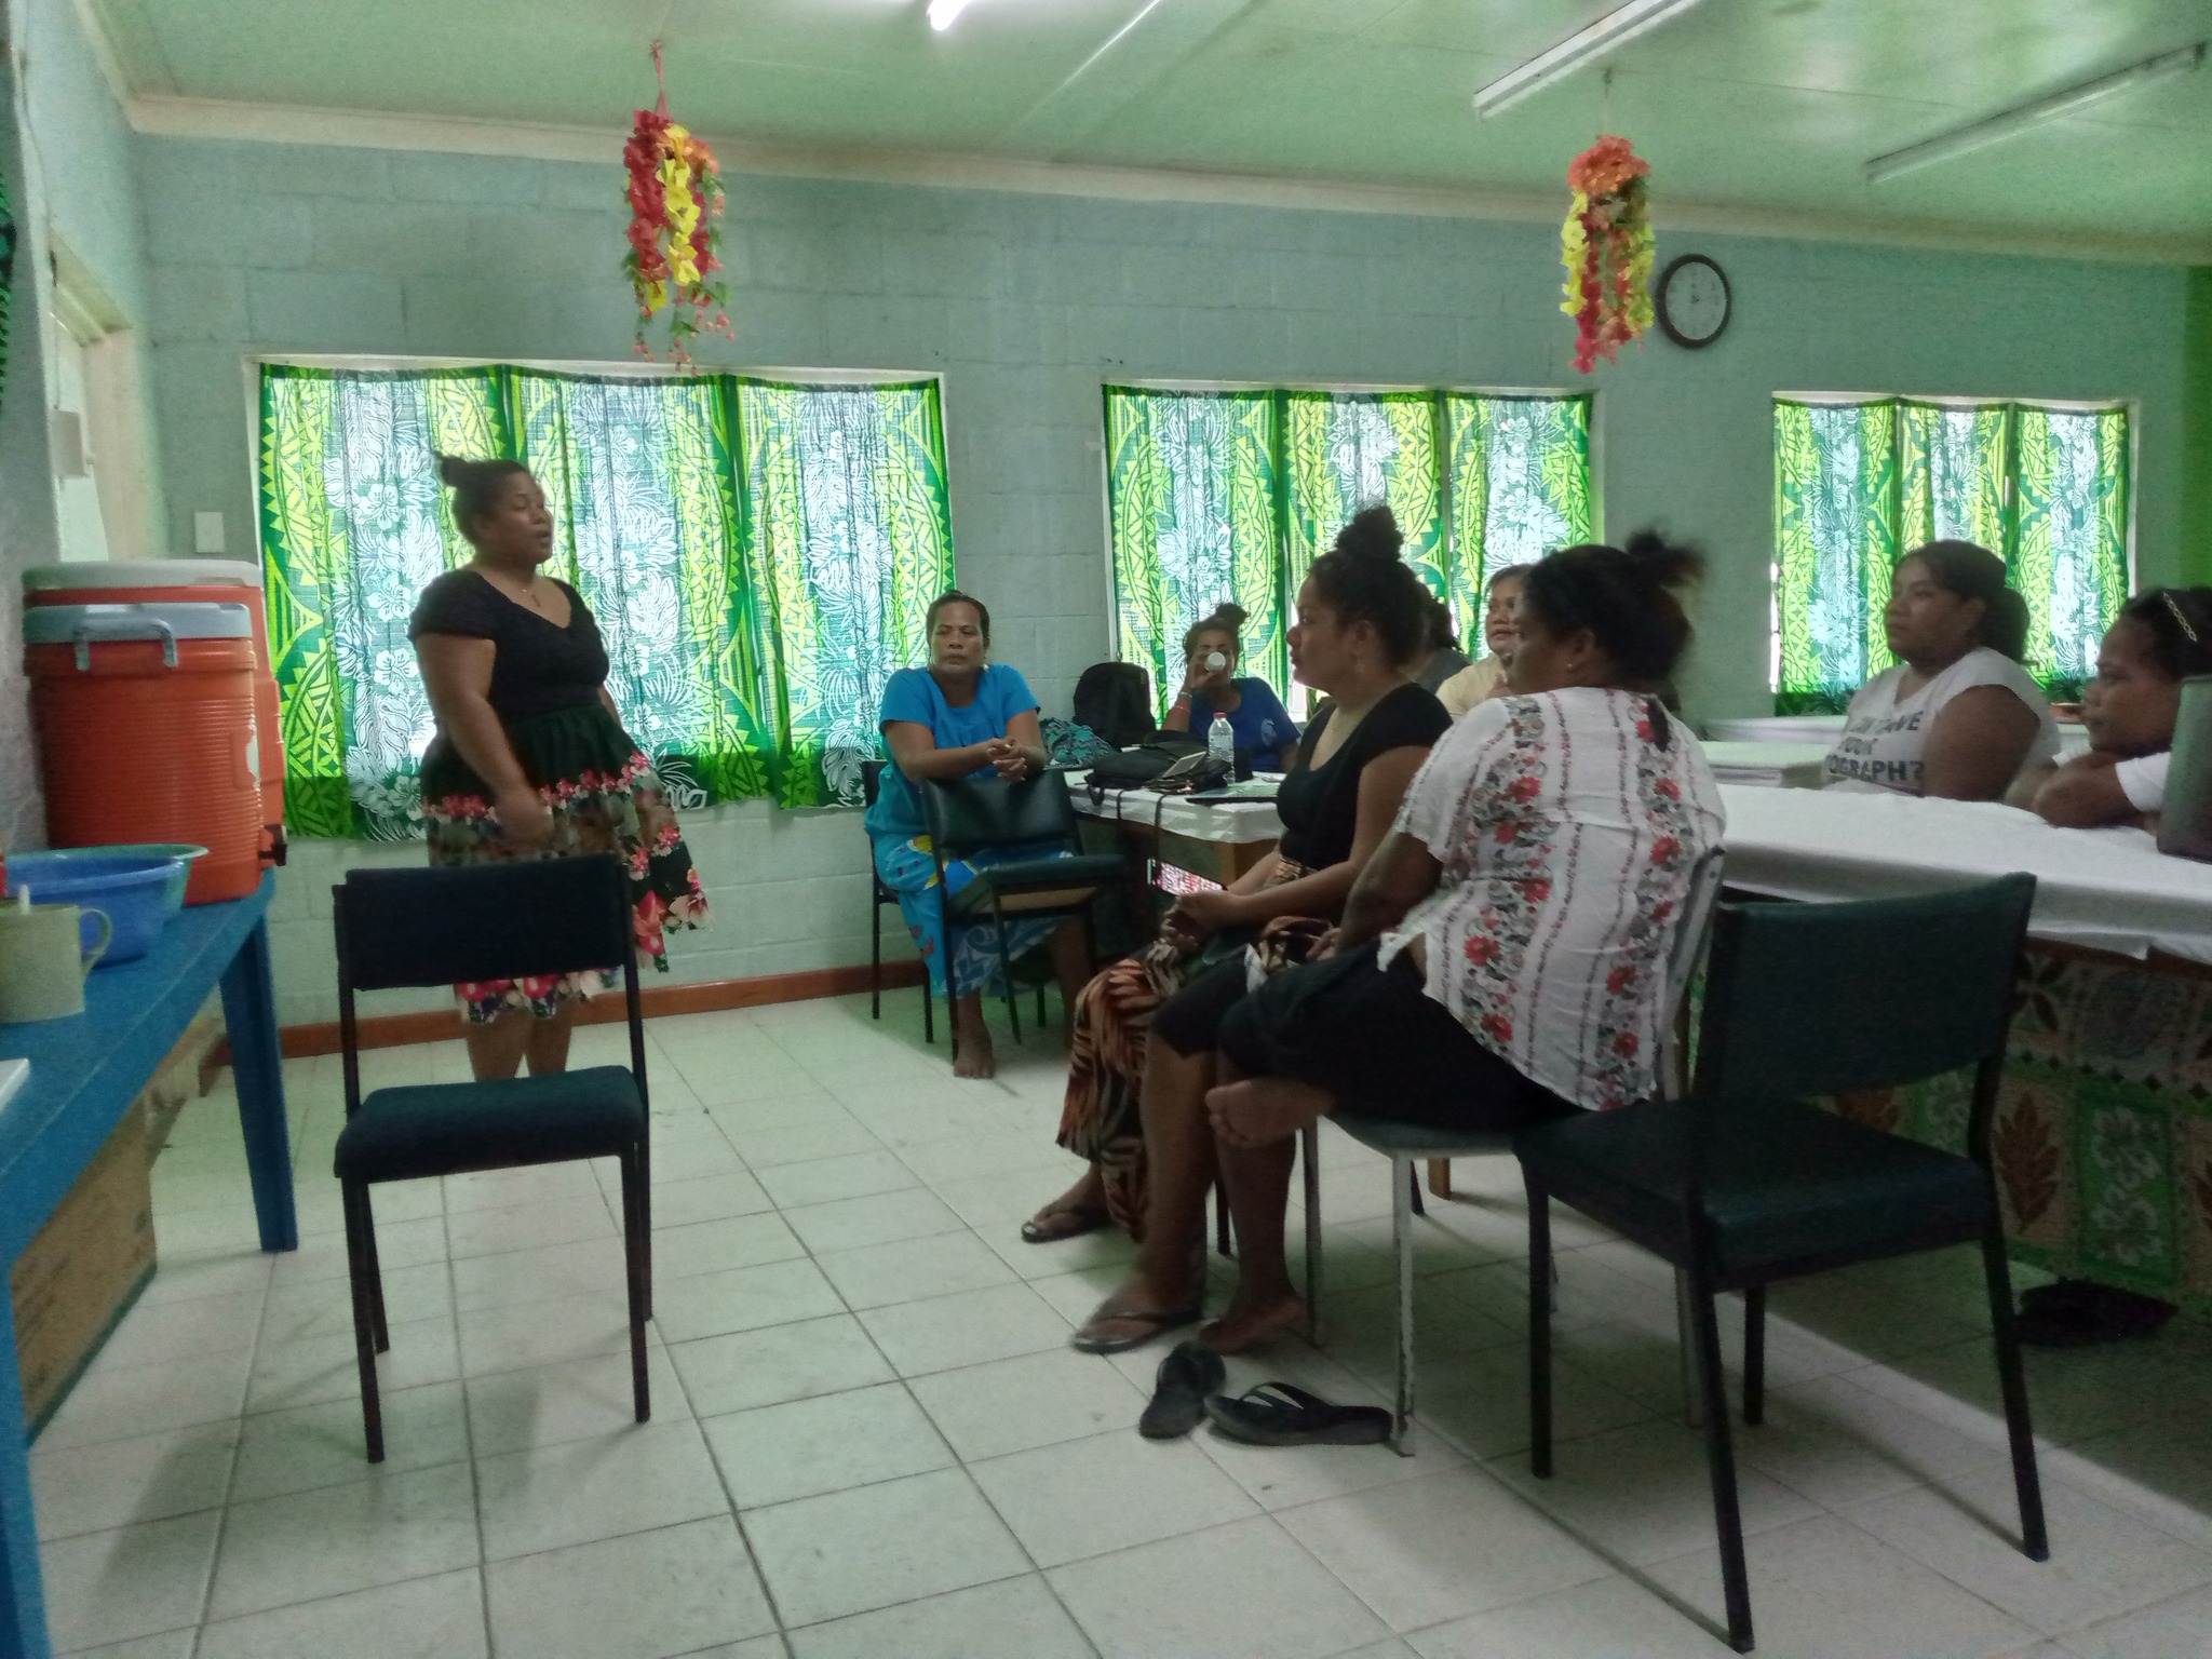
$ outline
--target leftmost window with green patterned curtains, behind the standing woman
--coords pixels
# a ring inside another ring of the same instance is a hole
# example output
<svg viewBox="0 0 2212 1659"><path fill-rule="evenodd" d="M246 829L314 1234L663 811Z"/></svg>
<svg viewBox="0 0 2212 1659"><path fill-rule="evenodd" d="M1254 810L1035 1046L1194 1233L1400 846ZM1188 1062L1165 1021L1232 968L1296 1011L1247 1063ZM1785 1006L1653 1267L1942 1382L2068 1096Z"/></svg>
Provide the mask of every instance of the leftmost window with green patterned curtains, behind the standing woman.
<svg viewBox="0 0 2212 1659"><path fill-rule="evenodd" d="M883 684L951 584L936 380L263 365L261 542L303 836L422 827L416 595L469 557L438 451L544 484L551 571L679 805L858 803Z"/></svg>

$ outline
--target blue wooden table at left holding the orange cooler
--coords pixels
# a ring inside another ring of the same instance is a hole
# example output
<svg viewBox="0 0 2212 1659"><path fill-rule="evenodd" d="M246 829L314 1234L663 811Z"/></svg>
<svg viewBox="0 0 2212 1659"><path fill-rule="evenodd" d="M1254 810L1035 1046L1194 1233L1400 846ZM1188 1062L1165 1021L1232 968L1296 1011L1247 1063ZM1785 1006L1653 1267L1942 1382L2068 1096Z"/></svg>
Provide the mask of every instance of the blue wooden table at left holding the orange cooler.
<svg viewBox="0 0 2212 1659"><path fill-rule="evenodd" d="M270 874L250 898L184 911L146 958L93 973L84 1013L71 1020L0 1026L0 1060L31 1062L31 1079L0 1108L0 1263L15 1263L217 987L239 1079L261 1248L299 1248L270 978L274 891ZM49 1659L51 1652L38 1582L15 1307L0 1294L0 1659Z"/></svg>

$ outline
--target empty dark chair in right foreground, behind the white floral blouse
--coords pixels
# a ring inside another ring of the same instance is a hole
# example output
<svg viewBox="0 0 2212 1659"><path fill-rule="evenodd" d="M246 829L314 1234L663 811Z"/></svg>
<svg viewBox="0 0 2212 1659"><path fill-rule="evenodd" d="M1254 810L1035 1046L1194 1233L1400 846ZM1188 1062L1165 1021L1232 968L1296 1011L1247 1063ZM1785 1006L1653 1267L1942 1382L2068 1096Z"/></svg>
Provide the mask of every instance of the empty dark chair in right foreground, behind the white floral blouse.
<svg viewBox="0 0 2212 1659"><path fill-rule="evenodd" d="M1989 1164L2033 876L1843 905L1721 905L1688 1097L1524 1128L1531 1467L1551 1475L1551 1199L1690 1279L1728 1641L1752 1648L1714 1296L1743 1292L1743 1420L1765 1396L1765 1287L1980 1243L2022 1553L2051 1557L2004 1217ZM1973 1066L1966 1155L1805 1104Z"/></svg>

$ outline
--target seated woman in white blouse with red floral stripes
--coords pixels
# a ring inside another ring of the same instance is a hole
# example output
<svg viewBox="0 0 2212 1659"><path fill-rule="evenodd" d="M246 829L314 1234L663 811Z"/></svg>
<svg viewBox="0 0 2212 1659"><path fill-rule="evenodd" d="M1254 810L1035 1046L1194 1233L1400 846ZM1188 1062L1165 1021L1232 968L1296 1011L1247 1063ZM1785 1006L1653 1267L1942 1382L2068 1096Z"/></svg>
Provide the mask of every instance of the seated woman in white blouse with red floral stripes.
<svg viewBox="0 0 2212 1659"><path fill-rule="evenodd" d="M1436 743L1334 951L1221 1026L1206 1106L1239 1283L1210 1347L1305 1316L1283 1263L1292 1144L1338 1102L1504 1128L1659 1091L1668 949L1723 823L1703 750L1652 695L1690 641L1674 591L1699 564L1639 535L1531 568L1511 692Z"/></svg>

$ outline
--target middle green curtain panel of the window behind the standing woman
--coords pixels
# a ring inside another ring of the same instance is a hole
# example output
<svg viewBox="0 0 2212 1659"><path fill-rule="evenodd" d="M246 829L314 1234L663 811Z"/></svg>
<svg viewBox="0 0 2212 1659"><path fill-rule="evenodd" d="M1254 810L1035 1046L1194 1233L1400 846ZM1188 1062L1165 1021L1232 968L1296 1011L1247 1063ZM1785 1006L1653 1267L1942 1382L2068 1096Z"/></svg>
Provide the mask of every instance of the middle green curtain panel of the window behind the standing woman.
<svg viewBox="0 0 2212 1659"><path fill-rule="evenodd" d="M728 403L712 378L507 376L553 511L553 575L606 639L606 690L670 801L768 794L752 604L737 564Z"/></svg>

